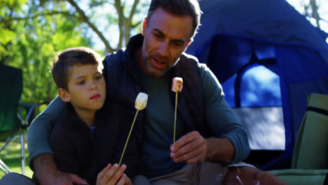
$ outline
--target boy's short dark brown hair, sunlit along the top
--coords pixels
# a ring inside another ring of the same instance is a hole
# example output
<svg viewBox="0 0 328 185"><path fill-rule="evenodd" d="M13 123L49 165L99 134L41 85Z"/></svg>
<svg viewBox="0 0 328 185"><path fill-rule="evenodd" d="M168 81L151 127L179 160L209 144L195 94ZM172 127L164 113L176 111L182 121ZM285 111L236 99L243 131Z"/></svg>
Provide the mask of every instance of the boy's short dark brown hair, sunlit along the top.
<svg viewBox="0 0 328 185"><path fill-rule="evenodd" d="M53 62L53 80L58 88L68 90L67 83L70 67L85 64L98 64L102 69L102 59L98 53L90 48L67 48L59 53Z"/></svg>

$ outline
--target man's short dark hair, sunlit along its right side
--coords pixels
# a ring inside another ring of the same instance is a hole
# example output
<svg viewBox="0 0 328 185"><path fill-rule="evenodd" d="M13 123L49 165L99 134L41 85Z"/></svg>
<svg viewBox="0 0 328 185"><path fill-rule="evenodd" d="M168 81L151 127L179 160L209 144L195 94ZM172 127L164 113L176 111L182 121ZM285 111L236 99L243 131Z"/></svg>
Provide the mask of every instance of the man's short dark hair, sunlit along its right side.
<svg viewBox="0 0 328 185"><path fill-rule="evenodd" d="M175 15L190 15L193 18L193 32L191 33L191 39L193 39L200 25L201 11L197 0L151 0L146 19L147 22L157 8L163 8L163 10Z"/></svg>

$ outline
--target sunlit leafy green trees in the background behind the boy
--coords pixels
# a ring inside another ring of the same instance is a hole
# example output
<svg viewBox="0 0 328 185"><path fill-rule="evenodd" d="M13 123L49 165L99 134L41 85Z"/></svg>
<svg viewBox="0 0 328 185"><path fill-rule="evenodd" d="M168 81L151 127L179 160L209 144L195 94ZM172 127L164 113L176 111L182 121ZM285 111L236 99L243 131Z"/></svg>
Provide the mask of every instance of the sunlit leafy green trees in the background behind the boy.
<svg viewBox="0 0 328 185"><path fill-rule="evenodd" d="M90 30L104 43L106 51L98 51L100 53L111 53L126 46L130 33L140 28L142 18L135 16L144 12L147 2L90 0L86 4L79 0L1 0L0 62L22 69L22 101L53 100L57 88L49 69L55 54L69 47L93 48ZM99 9L104 6L115 11L100 13ZM99 25L100 17L108 24ZM116 46L105 36L106 29L114 25L118 29L118 35L113 34L118 37Z"/></svg>

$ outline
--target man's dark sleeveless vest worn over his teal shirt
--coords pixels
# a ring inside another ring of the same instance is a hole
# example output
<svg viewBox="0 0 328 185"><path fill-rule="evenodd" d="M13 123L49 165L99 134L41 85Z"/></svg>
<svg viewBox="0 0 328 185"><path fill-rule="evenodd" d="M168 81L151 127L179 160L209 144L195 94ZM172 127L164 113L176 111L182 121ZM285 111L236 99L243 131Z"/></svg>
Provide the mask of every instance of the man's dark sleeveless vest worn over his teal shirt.
<svg viewBox="0 0 328 185"><path fill-rule="evenodd" d="M126 48L116 53L107 55L104 60L104 76L107 85L107 100L116 100L123 103L128 109L129 116L133 120L135 116L135 98L142 92L138 75L138 64L135 62L134 51L142 46L144 37L141 34L133 36ZM203 100L202 83L200 81L199 63L193 57L185 53L179 59L176 66L169 71L170 79L179 76L184 80L182 92L179 93L177 115L179 121L186 125L189 132L198 130L203 137L210 137L212 132L205 122L205 107ZM172 83L169 83L170 85ZM168 87L172 105L175 104L175 93ZM142 136L142 123L145 121L144 111L139 111L135 123L139 138Z"/></svg>

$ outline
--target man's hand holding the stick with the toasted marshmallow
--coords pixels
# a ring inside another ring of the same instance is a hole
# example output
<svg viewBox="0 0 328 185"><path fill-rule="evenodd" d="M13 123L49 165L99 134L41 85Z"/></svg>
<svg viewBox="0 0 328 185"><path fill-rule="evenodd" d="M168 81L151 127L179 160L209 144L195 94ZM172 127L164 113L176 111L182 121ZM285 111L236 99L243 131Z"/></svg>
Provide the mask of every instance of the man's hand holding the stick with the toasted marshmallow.
<svg viewBox="0 0 328 185"><path fill-rule="evenodd" d="M207 146L199 132L193 131L181 137L171 147L171 158L175 163L203 163L206 159Z"/></svg>

